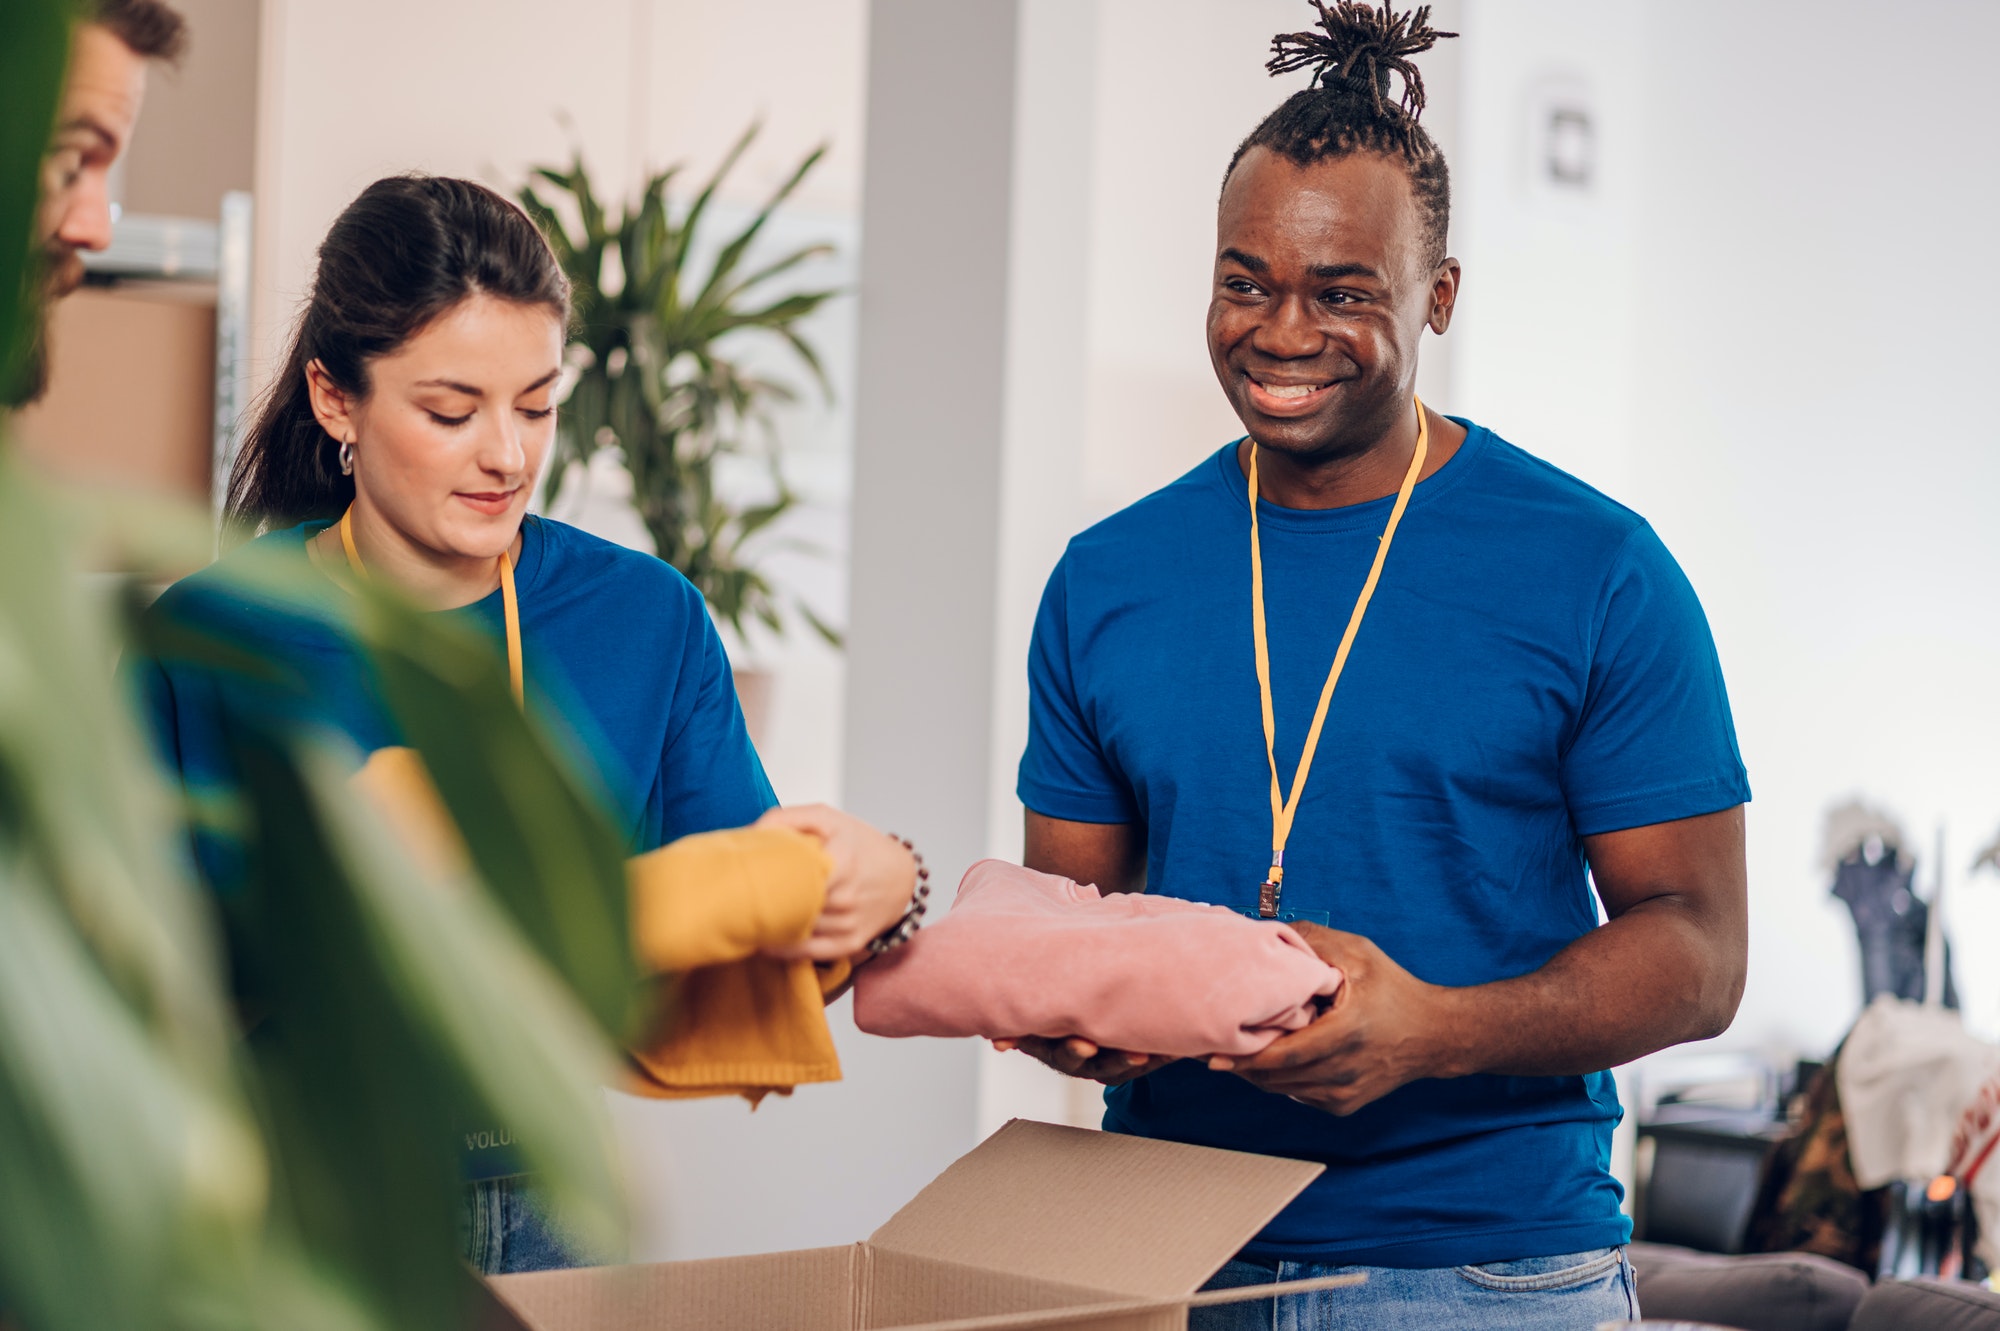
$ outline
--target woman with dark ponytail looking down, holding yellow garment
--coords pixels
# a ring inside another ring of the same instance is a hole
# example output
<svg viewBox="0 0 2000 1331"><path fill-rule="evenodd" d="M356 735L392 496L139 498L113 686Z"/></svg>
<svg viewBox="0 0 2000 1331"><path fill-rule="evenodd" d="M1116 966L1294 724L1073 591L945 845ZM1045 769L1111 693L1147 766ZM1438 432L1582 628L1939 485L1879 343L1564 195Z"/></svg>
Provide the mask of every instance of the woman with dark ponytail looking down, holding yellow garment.
<svg viewBox="0 0 2000 1331"><path fill-rule="evenodd" d="M568 316L568 282L548 244L484 186L396 176L340 214L228 482L228 522L254 540L154 608L284 666L304 689L274 699L260 681L210 666L144 664L140 687L162 753L190 789L228 789L230 715L270 707L346 735L362 757L396 753L402 741L352 646L246 600L228 566L296 560L334 582L380 578L506 652L516 697L554 715L550 729L578 737L630 851L658 869L644 881L666 891L688 865L704 865L692 871L704 927L740 941L756 929L732 923L734 905L714 903L740 899L746 917L760 905L768 913L776 887L768 877L738 881L752 869L730 877L714 865L774 863L744 847L768 849L776 837L784 871L808 879L804 897L796 881L784 887L804 907L788 915L796 925L786 937L752 945L790 963L866 959L906 935L900 921L920 899L908 849L834 809L776 809L700 592L652 556L526 512L554 438ZM718 831L750 823L758 827ZM716 855L716 835L744 837L732 843L744 853ZM702 853L676 859L682 847ZM222 891L240 873L214 835L198 837L196 861ZM658 969L738 959L708 951L682 925L648 943L644 897L634 901L636 945ZM824 1037L822 1019L812 1021ZM708 1039L716 1043L712 1029ZM672 1051L664 1063L646 1053L636 1055L640 1067L674 1073ZM828 1077L838 1063L798 1079ZM676 1083L654 1091L690 1093ZM484 1271L574 1261L538 1219L532 1187L488 1173L500 1167L468 1159L468 1257Z"/></svg>

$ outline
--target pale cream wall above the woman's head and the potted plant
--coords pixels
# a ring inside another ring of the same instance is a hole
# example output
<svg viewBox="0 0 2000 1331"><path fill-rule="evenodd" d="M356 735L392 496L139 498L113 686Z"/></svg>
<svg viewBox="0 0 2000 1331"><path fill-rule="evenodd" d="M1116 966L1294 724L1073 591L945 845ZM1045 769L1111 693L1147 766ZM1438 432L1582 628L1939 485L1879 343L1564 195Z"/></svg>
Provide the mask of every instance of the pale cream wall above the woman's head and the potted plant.
<svg viewBox="0 0 2000 1331"><path fill-rule="evenodd" d="M808 210L860 200L866 0L264 0L260 334L272 346L342 206L400 170L512 190L582 146L610 192L646 168L706 176L752 122L730 198L814 144Z"/></svg>

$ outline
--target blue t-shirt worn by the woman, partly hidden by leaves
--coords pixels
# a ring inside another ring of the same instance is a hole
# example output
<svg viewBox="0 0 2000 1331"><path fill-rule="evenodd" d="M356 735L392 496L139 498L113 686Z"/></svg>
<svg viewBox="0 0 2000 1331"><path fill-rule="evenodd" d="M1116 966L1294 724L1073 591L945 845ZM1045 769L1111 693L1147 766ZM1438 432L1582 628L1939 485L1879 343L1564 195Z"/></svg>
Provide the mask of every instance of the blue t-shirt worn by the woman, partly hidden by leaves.
<svg viewBox="0 0 2000 1331"><path fill-rule="evenodd" d="M306 560L306 538L324 526L260 536L154 604L152 614L276 662L306 685L304 693L280 691L182 662L142 666L138 685L154 735L190 789L232 783L222 727L238 707L292 713L346 735L362 755L402 743L350 642L316 620L244 598L228 580L240 560ZM674 568L566 524L528 518L514 584L528 707L574 741L570 757L596 781L630 853L740 827L778 801L744 727L730 662L702 594ZM502 650L498 592L442 614L476 626ZM232 847L204 835L196 855L204 875L226 891Z"/></svg>

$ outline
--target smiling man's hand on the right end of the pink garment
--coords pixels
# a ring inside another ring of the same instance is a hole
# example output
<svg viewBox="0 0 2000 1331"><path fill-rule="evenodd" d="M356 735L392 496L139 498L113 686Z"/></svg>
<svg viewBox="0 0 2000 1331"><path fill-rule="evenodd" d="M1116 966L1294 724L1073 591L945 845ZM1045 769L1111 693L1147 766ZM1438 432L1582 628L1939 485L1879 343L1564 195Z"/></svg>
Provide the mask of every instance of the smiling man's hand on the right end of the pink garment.
<svg viewBox="0 0 2000 1331"><path fill-rule="evenodd" d="M1420 1077L1458 1075L1452 995L1462 989L1424 983L1358 933L1292 927L1346 981L1312 1025L1252 1057L1212 1057L1214 1071L1338 1115Z"/></svg>

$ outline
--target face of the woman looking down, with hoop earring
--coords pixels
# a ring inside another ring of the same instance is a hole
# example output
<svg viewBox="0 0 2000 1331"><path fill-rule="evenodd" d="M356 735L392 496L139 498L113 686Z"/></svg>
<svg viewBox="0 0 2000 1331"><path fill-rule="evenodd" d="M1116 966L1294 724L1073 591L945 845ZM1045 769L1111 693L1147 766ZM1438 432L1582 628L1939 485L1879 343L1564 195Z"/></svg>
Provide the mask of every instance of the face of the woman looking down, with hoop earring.
<svg viewBox="0 0 2000 1331"><path fill-rule="evenodd" d="M358 510L434 556L494 560L556 436L560 372L554 310L472 296L370 362L364 400L314 376L314 408L354 442Z"/></svg>

